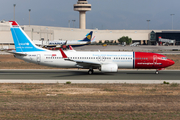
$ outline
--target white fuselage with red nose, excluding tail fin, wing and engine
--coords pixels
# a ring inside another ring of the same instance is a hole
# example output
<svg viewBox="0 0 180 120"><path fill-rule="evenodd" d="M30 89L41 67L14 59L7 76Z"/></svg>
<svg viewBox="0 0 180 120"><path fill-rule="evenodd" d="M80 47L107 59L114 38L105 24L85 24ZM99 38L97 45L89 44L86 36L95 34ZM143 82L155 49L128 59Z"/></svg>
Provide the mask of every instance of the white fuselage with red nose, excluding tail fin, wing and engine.
<svg viewBox="0 0 180 120"><path fill-rule="evenodd" d="M127 69L161 69L174 64L164 55L146 52L65 52L68 58L83 62L99 64L117 64L118 68ZM60 68L86 68L76 62L65 61L60 51L26 52L27 56L15 55L27 62ZM93 66L94 69L98 68Z"/></svg>

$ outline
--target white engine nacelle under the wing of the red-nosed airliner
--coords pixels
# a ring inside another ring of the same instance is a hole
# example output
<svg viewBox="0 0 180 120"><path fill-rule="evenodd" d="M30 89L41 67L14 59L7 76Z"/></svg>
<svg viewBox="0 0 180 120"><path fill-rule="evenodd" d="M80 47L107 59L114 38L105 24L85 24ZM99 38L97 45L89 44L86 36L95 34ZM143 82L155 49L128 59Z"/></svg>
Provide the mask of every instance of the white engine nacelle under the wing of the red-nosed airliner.
<svg viewBox="0 0 180 120"><path fill-rule="evenodd" d="M102 64L101 72L117 72L118 65L117 64Z"/></svg>

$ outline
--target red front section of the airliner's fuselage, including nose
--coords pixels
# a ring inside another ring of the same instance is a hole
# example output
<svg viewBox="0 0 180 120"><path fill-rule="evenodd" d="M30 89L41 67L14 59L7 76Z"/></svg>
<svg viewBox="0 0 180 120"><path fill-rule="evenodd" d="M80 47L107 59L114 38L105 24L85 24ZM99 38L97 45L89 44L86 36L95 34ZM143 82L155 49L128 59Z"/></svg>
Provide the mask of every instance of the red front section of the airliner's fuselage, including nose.
<svg viewBox="0 0 180 120"><path fill-rule="evenodd" d="M174 61L163 59L166 56L157 53L135 52L135 67L136 69L160 69L171 66Z"/></svg>

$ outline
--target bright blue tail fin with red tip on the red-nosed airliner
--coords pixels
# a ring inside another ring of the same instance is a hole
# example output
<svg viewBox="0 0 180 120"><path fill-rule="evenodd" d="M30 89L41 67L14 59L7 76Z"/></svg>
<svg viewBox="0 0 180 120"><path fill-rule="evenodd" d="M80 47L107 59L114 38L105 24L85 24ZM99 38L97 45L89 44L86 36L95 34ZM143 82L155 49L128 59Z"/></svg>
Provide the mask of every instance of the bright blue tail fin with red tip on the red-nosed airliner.
<svg viewBox="0 0 180 120"><path fill-rule="evenodd" d="M47 51L36 46L16 21L9 21L16 52Z"/></svg>

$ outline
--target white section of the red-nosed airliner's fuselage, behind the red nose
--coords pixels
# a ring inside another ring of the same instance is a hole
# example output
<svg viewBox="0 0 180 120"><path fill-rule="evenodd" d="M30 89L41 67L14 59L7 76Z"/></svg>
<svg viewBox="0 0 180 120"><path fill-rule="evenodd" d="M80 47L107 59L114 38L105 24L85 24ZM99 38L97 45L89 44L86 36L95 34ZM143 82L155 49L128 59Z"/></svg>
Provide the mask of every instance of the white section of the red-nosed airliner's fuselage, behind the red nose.
<svg viewBox="0 0 180 120"><path fill-rule="evenodd" d="M26 52L15 57L27 62L60 68L81 68L76 62L66 61L60 51ZM77 52L66 51L69 59L99 64L117 64L118 68L133 68L133 52Z"/></svg>

